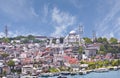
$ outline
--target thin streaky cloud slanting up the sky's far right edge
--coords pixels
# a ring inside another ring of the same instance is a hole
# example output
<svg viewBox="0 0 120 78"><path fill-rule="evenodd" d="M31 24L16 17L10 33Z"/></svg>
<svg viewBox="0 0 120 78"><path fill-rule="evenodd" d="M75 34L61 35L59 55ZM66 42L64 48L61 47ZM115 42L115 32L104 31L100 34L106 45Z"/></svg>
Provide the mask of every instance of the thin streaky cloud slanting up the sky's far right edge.
<svg viewBox="0 0 120 78"><path fill-rule="evenodd" d="M97 23L96 30L98 36L105 36L105 37L114 37L116 32L114 29L120 28L120 26L114 24L115 20L117 19L116 15L120 12L120 1L116 0L112 5L112 8L107 13L107 15Z"/></svg>

